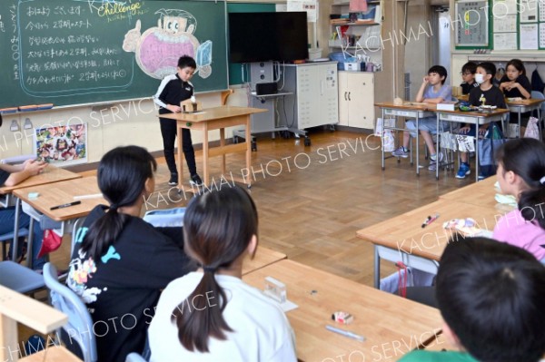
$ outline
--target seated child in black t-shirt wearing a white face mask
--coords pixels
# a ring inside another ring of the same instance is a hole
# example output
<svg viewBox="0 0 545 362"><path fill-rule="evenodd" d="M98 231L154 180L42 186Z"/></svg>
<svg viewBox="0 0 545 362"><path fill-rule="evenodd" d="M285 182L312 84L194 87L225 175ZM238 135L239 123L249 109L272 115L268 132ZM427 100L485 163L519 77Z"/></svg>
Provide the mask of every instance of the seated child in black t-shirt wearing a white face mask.
<svg viewBox="0 0 545 362"><path fill-rule="evenodd" d="M496 74L496 65L490 62L483 62L477 65L477 73L475 73L475 82L479 87L473 88L470 92L471 105L495 105L498 108L507 108L505 99L500 89L492 84L492 78ZM479 128L479 134L483 136L489 128L489 124L482 125ZM466 123L460 128L461 134L468 134L475 137L475 124ZM460 168L456 172L457 179L465 179L471 174L470 158L468 152L460 152ZM479 176L482 178L481 176Z"/></svg>

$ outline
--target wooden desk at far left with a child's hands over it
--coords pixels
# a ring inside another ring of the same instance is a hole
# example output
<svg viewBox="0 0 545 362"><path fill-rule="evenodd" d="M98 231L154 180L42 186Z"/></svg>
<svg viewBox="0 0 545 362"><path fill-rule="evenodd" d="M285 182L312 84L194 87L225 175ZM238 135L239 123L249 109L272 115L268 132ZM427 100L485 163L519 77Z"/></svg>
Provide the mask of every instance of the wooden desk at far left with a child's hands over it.
<svg viewBox="0 0 545 362"><path fill-rule="evenodd" d="M45 167L44 171L42 173L39 173L35 176L29 177L23 182L19 182L15 186L3 186L0 187L0 196L4 196L3 200L0 201L0 206L8 207L12 203L12 196L14 195L14 191L19 189L24 189L27 187L35 187L39 185L46 185L49 183L54 183L58 181L66 181L66 180L74 180L81 178L82 175L79 173L74 173L72 171L66 171L64 169L55 167L53 165L48 165ZM15 202L15 221L14 221L14 240L12 247L14 250L17 248L17 242L19 240L19 215L21 212L21 202L19 202L17 199L15 199L13 202ZM28 235L28 240L32 243L32 232ZM32 249L29 249L32 250ZM31 251L32 253L32 251ZM15 261L17 258L17 253L12 253L12 259ZM30 254L29 254L30 255ZM29 260L32 258L28 258ZM30 261L29 261L30 263Z"/></svg>

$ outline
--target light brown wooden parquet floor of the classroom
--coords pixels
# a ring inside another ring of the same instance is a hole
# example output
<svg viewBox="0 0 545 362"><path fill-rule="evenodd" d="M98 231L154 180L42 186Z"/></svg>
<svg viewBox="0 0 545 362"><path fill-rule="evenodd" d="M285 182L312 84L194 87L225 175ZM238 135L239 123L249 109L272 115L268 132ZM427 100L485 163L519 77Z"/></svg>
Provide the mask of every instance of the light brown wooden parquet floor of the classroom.
<svg viewBox="0 0 545 362"><path fill-rule="evenodd" d="M254 180L251 193L260 218L259 242L288 259L366 285L372 285L372 246L357 239L356 230L436 201L442 193L474 180L456 180L453 171L442 171L436 181L427 167L417 177L408 159L399 163L389 159L381 171L380 139L365 133L320 129L311 132L311 139L310 147L302 140L278 136L257 140L253 170L246 173ZM197 152L202 175L201 160ZM160 162L156 192L147 208L185 206L192 193L178 196L172 191L166 183L166 165ZM228 155L227 168L221 181L220 158L212 161L216 187L226 187L231 172L245 172L243 154ZM67 264L68 244L52 256L59 268ZM391 271L383 268L382 274Z"/></svg>

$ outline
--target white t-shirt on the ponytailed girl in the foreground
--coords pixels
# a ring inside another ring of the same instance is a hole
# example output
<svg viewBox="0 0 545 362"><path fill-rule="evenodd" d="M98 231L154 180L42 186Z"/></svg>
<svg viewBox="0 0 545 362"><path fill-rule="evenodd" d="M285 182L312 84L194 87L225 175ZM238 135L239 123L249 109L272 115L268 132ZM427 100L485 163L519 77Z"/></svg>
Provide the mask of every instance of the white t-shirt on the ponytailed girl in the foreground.
<svg viewBox="0 0 545 362"><path fill-rule="evenodd" d="M192 272L173 280L163 290L148 330L152 362L297 360L293 331L282 308L243 280L225 275L216 275L215 279L227 296L223 318L233 332L225 332L225 340L210 338L209 353L185 349L178 340L178 328L171 316L174 308L193 292L202 278L202 272ZM218 308L217 300L211 295L198 298L206 297L209 297L210 308ZM193 308L191 303L189 307ZM189 310L187 305L183 306L183 313Z"/></svg>

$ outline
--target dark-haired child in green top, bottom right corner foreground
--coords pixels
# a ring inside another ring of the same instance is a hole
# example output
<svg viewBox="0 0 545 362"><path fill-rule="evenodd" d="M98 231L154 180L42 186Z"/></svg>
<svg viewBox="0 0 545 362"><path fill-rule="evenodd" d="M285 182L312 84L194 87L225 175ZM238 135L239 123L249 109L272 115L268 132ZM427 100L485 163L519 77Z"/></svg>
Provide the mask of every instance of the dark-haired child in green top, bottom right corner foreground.
<svg viewBox="0 0 545 362"><path fill-rule="evenodd" d="M523 249L486 238L451 241L436 298L458 351L413 351L402 362L538 362L545 353L545 268Z"/></svg>

